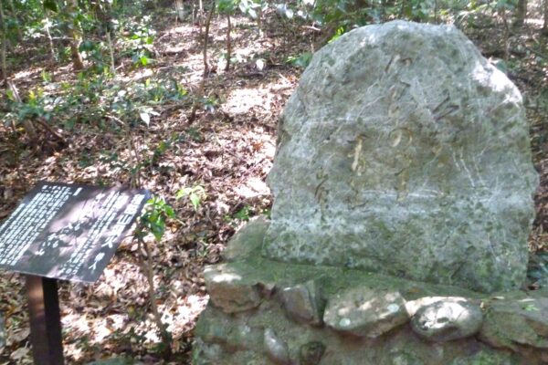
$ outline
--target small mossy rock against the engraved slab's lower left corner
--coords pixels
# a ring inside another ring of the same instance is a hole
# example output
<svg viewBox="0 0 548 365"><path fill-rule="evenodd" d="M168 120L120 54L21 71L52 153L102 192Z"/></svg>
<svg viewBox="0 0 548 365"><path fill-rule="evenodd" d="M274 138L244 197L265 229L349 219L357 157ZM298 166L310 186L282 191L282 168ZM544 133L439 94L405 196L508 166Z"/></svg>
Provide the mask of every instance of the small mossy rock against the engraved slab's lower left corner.
<svg viewBox="0 0 548 365"><path fill-rule="evenodd" d="M223 251L223 259L235 261L245 259L249 255L258 255L268 227L269 221L264 216L249 221L230 239Z"/></svg>

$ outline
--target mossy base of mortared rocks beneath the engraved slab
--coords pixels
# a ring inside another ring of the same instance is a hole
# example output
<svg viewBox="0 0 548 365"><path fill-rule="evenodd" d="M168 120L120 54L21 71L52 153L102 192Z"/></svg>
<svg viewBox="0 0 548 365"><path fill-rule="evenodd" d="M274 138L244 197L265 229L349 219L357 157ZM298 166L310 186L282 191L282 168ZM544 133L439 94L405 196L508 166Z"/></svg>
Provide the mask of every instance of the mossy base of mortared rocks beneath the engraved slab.
<svg viewBox="0 0 548 365"><path fill-rule="evenodd" d="M548 292L491 295L257 254L265 221L209 266L195 365L548 364Z"/></svg>

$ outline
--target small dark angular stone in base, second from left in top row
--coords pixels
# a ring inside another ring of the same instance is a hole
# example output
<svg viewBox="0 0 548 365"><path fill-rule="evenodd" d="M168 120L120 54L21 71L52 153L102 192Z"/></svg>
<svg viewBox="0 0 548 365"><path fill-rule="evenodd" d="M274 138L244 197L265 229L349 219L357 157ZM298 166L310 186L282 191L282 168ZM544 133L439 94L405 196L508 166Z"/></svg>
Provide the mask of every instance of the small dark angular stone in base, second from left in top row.
<svg viewBox="0 0 548 365"><path fill-rule="evenodd" d="M324 300L316 280L294 287L284 287L279 298L289 318L301 323L321 325Z"/></svg>

